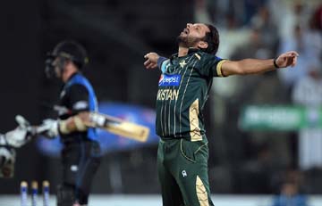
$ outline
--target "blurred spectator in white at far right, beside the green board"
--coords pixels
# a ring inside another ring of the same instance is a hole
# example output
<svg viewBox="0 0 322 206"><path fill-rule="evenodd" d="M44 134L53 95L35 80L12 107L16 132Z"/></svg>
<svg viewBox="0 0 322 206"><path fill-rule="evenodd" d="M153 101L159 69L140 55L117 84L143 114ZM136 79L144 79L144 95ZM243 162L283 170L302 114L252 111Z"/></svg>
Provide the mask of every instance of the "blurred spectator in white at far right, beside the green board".
<svg viewBox="0 0 322 206"><path fill-rule="evenodd" d="M309 76L302 78L292 92L293 103L308 110L309 128L299 133L299 166L322 168L322 128L318 128L318 109L322 105L322 72L320 62L311 62Z"/></svg>

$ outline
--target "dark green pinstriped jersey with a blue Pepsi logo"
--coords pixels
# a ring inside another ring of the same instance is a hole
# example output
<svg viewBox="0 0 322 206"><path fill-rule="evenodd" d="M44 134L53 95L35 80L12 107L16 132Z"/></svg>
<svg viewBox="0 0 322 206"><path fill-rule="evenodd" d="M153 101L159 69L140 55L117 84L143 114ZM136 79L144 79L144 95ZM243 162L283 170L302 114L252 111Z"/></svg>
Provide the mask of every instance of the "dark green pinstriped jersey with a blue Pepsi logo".
<svg viewBox="0 0 322 206"><path fill-rule="evenodd" d="M196 49L190 49L182 57L174 54L171 59L158 61L162 71L157 91L158 136L190 141L205 139L202 110L213 78L223 77L223 62L213 54Z"/></svg>

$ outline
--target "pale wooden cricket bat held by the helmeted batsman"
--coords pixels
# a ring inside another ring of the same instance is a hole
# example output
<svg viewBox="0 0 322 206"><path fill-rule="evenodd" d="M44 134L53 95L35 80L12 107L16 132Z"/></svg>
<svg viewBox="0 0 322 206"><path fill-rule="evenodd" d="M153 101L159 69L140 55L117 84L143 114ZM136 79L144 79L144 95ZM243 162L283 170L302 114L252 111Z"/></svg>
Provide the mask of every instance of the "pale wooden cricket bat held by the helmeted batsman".
<svg viewBox="0 0 322 206"><path fill-rule="evenodd" d="M148 127L98 112L89 112L89 119L88 122L84 122L88 127L102 128L115 135L140 142L146 142L148 139Z"/></svg>

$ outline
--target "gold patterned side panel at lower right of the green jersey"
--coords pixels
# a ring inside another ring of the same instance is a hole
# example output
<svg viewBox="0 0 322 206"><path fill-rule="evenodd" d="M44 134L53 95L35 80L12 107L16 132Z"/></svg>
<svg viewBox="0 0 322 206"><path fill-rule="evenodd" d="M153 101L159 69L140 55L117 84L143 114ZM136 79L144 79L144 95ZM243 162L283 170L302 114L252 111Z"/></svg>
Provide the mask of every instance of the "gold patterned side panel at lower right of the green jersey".
<svg viewBox="0 0 322 206"><path fill-rule="evenodd" d="M199 128L199 99L196 99L189 108L189 121L191 126L191 142L202 140Z"/></svg>

